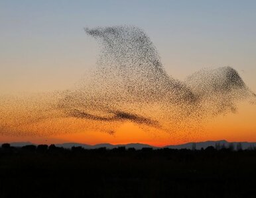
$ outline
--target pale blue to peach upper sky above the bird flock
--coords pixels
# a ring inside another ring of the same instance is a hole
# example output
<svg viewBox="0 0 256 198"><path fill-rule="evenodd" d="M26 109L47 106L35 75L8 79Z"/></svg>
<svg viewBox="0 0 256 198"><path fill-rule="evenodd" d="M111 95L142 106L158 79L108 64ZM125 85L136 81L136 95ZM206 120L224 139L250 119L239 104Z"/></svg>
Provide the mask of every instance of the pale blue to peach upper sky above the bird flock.
<svg viewBox="0 0 256 198"><path fill-rule="evenodd" d="M172 77L182 80L203 67L229 65L256 92L255 10L256 1L235 0L1 0L0 94L70 88L95 66L99 52L97 42L86 36L83 28L122 24L139 26L147 32ZM232 121L252 119L246 125L249 132L235 138L226 132L223 139L256 141L255 106L248 110L254 111L249 118L228 117L228 124L223 124L227 129L221 127L221 130L230 131L227 125L231 126ZM247 110L241 112L248 116ZM241 124L241 129L244 127ZM63 139L76 141L71 137ZM222 139L222 136L202 139ZM123 143L116 141L120 142ZM169 142L173 141L164 139L155 145Z"/></svg>

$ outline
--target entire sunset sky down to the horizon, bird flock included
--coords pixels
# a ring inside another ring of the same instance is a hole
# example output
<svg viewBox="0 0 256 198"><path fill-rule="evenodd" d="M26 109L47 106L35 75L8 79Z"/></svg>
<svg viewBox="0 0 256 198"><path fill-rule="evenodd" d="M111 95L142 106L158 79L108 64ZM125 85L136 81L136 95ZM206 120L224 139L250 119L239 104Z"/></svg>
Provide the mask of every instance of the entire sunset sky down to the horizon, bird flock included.
<svg viewBox="0 0 256 198"><path fill-rule="evenodd" d="M0 147L256 143L256 1L106 2L0 1Z"/></svg>

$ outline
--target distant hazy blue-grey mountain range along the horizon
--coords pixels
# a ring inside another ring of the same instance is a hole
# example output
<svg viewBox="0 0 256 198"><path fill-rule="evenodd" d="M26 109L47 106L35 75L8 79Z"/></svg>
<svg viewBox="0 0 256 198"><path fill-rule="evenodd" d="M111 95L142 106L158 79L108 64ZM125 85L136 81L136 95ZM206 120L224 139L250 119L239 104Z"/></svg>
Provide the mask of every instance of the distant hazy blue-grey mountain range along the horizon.
<svg viewBox="0 0 256 198"><path fill-rule="evenodd" d="M196 149L206 149L207 147L216 147L216 145L219 145L219 147L229 147L230 144L233 144L234 149L237 148L238 144L241 144L242 149L248 149L249 147L256 147L256 143L248 143L248 142L227 142L225 140L221 141L205 141L205 142L199 142L196 143ZM30 142L17 142L17 143L10 143L12 147L23 147L25 145L36 145ZM194 143L185 143L182 145L167 145L165 147L153 147L151 145L145 145L141 143L130 143L126 145L111 145L109 143L102 143L97 145L86 145L82 143L62 143L62 144L56 144L56 147L63 147L65 149L71 149L72 147L83 147L84 149L98 149L101 147L105 147L106 149L114 149L118 147L126 147L129 148L135 148L137 150L142 148L153 148L153 149L159 149L159 148L169 148L169 149L192 149Z"/></svg>

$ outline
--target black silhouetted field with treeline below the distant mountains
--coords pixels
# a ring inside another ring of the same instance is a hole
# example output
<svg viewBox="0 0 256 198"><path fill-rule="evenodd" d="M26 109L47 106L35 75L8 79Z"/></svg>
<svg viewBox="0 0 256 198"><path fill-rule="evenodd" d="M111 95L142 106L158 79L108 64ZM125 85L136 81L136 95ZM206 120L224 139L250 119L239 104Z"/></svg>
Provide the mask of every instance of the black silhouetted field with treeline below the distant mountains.
<svg viewBox="0 0 256 198"><path fill-rule="evenodd" d="M0 197L256 197L256 150L3 145Z"/></svg>

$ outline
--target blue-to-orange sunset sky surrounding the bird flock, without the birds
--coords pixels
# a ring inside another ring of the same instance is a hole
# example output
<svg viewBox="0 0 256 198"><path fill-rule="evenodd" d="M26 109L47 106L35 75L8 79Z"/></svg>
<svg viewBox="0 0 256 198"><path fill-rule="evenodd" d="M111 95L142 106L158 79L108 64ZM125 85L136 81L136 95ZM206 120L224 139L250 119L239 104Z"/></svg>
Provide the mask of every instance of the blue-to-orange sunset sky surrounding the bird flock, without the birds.
<svg viewBox="0 0 256 198"><path fill-rule="evenodd" d="M86 36L84 27L119 24L143 28L159 51L164 69L175 79L185 79L204 67L229 65L256 92L255 6L256 1L102 1L100 5L96 1L63 1L61 6L56 1L1 2L0 143L162 146L220 139L256 142L255 104L243 103L237 114L220 115L197 127L168 133L130 122L102 123L108 130L104 132L92 121L55 118L54 112L44 108L51 102L38 102L40 94L37 98L24 96L21 103L17 98L4 104L1 101L5 94L66 90L88 77L87 72L96 66L99 46ZM34 117L40 120L41 116L54 118L34 123ZM107 133L111 127L115 128L112 135ZM170 131L173 127L168 126Z"/></svg>

